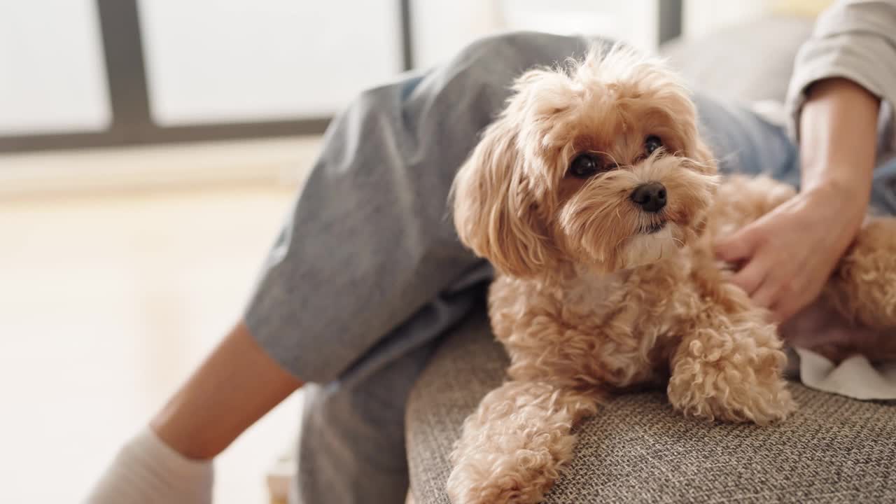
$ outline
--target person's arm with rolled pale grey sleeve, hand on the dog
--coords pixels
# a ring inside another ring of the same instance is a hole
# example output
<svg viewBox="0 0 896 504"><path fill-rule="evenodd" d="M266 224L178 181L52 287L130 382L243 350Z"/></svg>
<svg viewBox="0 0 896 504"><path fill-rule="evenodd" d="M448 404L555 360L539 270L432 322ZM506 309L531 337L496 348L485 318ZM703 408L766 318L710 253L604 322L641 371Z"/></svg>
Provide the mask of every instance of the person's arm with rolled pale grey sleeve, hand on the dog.
<svg viewBox="0 0 896 504"><path fill-rule="evenodd" d="M867 212L880 105L896 100L893 26L896 0L841 0L820 16L788 91L800 193L717 246L743 265L732 281L779 321L818 297Z"/></svg>

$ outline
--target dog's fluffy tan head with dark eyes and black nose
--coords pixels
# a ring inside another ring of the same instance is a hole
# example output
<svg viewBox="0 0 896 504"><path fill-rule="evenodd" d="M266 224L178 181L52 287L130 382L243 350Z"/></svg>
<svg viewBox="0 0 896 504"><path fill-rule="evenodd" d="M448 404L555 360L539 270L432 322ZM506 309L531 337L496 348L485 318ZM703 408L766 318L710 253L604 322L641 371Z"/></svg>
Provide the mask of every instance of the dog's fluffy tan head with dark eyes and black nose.
<svg viewBox="0 0 896 504"><path fill-rule="evenodd" d="M454 181L461 240L514 276L646 265L702 231L715 163L661 62L592 50L523 74Z"/></svg>

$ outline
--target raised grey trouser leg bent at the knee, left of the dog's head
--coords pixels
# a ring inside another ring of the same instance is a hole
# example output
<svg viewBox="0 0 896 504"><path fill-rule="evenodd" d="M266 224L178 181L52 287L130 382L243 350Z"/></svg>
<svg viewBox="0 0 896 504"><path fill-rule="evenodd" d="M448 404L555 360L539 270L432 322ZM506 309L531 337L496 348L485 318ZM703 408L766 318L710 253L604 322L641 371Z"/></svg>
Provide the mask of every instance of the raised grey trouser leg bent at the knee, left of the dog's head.
<svg viewBox="0 0 896 504"><path fill-rule="evenodd" d="M365 91L333 121L246 310L280 366L305 382L340 378L481 262L448 217L454 174L514 77L586 48L546 34L483 39Z"/></svg>

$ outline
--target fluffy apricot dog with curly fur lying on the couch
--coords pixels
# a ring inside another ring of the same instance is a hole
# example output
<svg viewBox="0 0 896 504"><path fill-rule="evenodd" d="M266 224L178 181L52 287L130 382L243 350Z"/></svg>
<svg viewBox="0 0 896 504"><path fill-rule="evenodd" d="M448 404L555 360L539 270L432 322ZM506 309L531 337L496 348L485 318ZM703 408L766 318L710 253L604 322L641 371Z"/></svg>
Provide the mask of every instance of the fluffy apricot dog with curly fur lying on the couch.
<svg viewBox="0 0 896 504"><path fill-rule="evenodd" d="M498 271L489 314L511 365L464 423L453 502L542 500L573 425L608 391L668 383L687 415L786 417L777 328L725 281L711 243L793 189L719 184L687 91L632 51L531 70L513 90L454 186L461 240ZM896 326L894 233L871 222L842 260L829 299L844 318Z"/></svg>

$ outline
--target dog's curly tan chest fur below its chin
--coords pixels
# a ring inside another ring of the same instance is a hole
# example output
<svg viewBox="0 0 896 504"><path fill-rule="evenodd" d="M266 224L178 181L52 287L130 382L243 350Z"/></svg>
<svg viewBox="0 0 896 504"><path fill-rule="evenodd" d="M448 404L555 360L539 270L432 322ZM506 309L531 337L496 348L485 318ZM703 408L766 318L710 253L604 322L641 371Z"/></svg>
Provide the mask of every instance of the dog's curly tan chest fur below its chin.
<svg viewBox="0 0 896 504"><path fill-rule="evenodd" d="M613 274L582 269L550 286L499 277L491 318L512 376L542 369L554 380L616 387L661 378L686 312L687 268L679 257Z"/></svg>

